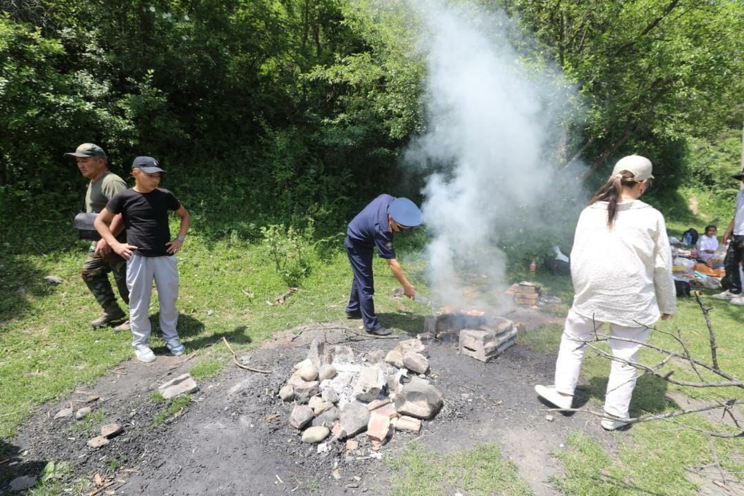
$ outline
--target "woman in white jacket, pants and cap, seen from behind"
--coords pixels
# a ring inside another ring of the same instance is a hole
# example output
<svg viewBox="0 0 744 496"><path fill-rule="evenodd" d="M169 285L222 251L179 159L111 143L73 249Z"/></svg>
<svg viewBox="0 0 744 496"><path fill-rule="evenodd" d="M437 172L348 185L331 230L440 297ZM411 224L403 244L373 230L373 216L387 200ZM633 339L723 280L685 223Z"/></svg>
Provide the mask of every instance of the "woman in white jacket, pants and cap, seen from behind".
<svg viewBox="0 0 744 496"><path fill-rule="evenodd" d="M650 185L649 159L620 159L605 185L579 217L571 250L574 305L568 311L556 361L555 384L535 386L559 408L571 408L586 341L603 323L612 337L647 340L649 327L676 310L667 228L661 212L638 200ZM609 340L612 369L602 427L614 430L629 419L635 368L641 345Z"/></svg>

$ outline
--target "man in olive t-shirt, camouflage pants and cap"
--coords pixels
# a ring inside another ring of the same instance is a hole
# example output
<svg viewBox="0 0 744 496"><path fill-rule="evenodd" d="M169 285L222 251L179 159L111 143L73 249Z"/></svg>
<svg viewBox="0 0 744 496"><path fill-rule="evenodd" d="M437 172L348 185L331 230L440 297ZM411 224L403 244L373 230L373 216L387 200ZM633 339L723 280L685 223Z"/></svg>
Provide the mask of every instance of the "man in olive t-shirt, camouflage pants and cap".
<svg viewBox="0 0 744 496"><path fill-rule="evenodd" d="M90 179L86 191L85 209L91 214L98 214L111 198L126 189L126 182L108 168L106 152L97 144L83 143L77 150L65 153L77 162L77 168L83 177ZM120 241L126 241L124 221L117 216L111 225L111 230ZM126 314L116 302L116 296L109 282L109 272L114 274L114 280L119 290L119 296L129 305L129 290L126 288L126 260L117 255L106 243L100 239L93 241L80 271L98 304L103 307L103 315L91 322L94 328L124 319ZM114 328L115 331L129 330L129 321Z"/></svg>

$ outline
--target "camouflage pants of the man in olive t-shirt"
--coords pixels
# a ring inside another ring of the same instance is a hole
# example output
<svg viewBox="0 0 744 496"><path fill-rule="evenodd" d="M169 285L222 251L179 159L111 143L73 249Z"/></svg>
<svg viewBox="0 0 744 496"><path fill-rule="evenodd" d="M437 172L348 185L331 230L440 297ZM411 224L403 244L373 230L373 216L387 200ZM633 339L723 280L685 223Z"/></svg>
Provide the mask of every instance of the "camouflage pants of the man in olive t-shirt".
<svg viewBox="0 0 744 496"><path fill-rule="evenodd" d="M129 290L126 288L126 260L121 258L115 252L109 252L108 255L96 255L93 250L86 255L86 261L83 263L83 269L80 270L80 276L88 285L89 290L95 296L98 305L104 309L116 305L116 296L109 282L109 272L114 273L116 287L119 290L119 296L124 303L129 305Z"/></svg>

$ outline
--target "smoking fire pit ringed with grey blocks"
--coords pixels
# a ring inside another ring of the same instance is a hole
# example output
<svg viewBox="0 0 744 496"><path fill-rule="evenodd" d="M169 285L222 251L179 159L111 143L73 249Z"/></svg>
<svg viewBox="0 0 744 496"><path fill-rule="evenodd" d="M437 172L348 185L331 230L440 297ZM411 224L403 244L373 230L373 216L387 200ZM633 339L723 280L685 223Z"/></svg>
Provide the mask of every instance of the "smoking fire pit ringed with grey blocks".
<svg viewBox="0 0 744 496"><path fill-rule="evenodd" d="M426 336L458 341L461 354L488 362L516 343L517 329L509 319L481 311L460 311L426 317Z"/></svg>

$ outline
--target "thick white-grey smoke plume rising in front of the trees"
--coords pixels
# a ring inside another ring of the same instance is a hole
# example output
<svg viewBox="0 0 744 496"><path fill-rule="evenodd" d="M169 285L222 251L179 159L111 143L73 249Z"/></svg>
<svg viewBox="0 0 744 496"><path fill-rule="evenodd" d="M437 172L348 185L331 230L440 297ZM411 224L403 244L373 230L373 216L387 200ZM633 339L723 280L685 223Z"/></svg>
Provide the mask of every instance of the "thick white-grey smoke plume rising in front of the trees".
<svg viewBox="0 0 744 496"><path fill-rule="evenodd" d="M408 4L423 26L427 131L405 159L437 171L423 190L429 281L447 305L478 306L467 288L503 287L505 243L529 257L530 239L572 232L577 212L560 209L585 194L557 162L577 96L557 68L525 56L530 39L504 13Z"/></svg>

